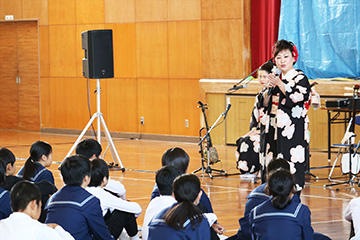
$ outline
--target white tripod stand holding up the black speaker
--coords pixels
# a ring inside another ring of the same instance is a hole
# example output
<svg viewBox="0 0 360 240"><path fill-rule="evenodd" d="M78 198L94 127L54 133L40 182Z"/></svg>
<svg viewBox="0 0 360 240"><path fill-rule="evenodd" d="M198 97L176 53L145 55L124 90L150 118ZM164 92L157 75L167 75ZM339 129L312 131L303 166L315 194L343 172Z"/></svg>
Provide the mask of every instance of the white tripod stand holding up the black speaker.
<svg viewBox="0 0 360 240"><path fill-rule="evenodd" d="M106 126L103 114L101 113L101 102L100 102L100 96L101 96L101 88L100 88L100 79L97 79L96 82L96 103L97 103L97 111L94 113L94 115L91 117L90 121L87 123L83 131L80 133L79 137L76 139L74 145L71 147L70 151L67 153L66 157L69 157L72 152L75 150L76 146L79 144L81 139L84 137L86 131L89 129L91 124L97 119L97 141L99 144L101 144L101 126L104 129L106 140L110 146L111 155L113 157L115 166L120 166L121 171L125 171L124 165L121 162L120 156L116 150L115 144L111 138L109 129Z"/></svg>

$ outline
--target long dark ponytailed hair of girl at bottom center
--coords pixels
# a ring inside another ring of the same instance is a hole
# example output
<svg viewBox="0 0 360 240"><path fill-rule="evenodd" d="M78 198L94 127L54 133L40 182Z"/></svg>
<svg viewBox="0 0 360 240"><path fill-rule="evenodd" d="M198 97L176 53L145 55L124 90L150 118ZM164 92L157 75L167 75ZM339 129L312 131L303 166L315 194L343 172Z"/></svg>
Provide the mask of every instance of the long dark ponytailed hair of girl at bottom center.
<svg viewBox="0 0 360 240"><path fill-rule="evenodd" d="M166 224L180 230L185 228L184 223L189 219L194 229L195 225L200 224L203 219L202 212L194 205L201 191L199 178L192 174L181 175L174 180L173 189L175 199L179 204L165 213Z"/></svg>

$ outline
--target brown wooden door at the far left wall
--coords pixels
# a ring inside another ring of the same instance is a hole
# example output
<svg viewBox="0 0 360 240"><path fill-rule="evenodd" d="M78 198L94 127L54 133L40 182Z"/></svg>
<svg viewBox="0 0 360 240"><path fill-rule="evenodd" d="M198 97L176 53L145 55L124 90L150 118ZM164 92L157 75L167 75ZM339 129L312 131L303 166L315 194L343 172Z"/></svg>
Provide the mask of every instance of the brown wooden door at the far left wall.
<svg viewBox="0 0 360 240"><path fill-rule="evenodd" d="M37 21L0 22L0 129L40 130Z"/></svg>

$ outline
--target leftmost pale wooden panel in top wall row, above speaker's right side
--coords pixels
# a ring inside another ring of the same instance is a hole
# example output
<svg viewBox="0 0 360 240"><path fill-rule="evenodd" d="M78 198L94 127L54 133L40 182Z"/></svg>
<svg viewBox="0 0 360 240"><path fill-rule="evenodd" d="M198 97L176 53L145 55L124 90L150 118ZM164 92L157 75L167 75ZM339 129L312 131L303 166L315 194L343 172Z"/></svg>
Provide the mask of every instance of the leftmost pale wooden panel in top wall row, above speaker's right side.
<svg viewBox="0 0 360 240"><path fill-rule="evenodd" d="M105 0L105 23L134 23L134 0Z"/></svg>

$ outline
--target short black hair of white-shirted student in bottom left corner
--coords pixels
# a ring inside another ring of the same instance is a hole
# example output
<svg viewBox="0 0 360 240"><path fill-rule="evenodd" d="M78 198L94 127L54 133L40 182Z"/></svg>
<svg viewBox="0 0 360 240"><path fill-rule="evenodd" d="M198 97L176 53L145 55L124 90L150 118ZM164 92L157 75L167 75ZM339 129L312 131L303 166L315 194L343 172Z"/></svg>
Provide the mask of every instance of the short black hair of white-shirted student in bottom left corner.
<svg viewBox="0 0 360 240"><path fill-rule="evenodd" d="M37 205L41 201L41 191L34 183L24 180L11 188L10 203L14 212L23 212L33 200L36 200Z"/></svg>

